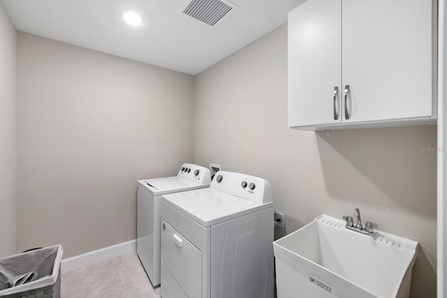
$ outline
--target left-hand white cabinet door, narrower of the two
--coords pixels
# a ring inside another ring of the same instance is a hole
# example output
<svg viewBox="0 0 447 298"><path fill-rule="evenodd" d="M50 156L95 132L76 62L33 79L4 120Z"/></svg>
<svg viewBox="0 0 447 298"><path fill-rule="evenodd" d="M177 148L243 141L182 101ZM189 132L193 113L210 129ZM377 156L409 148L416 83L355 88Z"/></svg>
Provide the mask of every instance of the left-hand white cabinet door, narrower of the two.
<svg viewBox="0 0 447 298"><path fill-rule="evenodd" d="M312 0L288 14L288 126L341 121L341 10L341 0Z"/></svg>

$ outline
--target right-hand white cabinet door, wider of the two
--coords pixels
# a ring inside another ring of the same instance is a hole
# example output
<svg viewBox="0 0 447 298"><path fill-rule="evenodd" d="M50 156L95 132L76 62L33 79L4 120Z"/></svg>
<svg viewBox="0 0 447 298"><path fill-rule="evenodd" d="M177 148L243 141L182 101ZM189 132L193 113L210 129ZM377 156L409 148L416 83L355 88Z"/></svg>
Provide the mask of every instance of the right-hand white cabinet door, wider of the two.
<svg viewBox="0 0 447 298"><path fill-rule="evenodd" d="M343 0L342 15L342 121L430 117L432 1Z"/></svg>

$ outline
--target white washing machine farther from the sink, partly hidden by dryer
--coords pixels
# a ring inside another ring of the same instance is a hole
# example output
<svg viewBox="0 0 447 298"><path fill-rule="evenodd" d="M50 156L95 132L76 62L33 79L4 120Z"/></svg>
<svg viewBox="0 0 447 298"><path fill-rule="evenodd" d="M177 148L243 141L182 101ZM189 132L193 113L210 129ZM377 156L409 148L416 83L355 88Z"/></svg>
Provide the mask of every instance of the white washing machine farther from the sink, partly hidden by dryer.
<svg viewBox="0 0 447 298"><path fill-rule="evenodd" d="M152 285L160 284L161 195L210 186L210 170L184 163L175 177L137 182L137 255Z"/></svg>

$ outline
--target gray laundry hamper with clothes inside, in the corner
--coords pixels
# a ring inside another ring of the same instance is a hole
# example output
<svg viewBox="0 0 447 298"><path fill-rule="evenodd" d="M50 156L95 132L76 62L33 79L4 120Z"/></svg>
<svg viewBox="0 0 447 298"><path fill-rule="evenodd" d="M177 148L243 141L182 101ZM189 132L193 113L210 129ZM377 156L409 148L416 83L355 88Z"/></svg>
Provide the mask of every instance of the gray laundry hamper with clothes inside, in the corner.
<svg viewBox="0 0 447 298"><path fill-rule="evenodd" d="M60 298L62 251L58 244L0 258L0 297Z"/></svg>

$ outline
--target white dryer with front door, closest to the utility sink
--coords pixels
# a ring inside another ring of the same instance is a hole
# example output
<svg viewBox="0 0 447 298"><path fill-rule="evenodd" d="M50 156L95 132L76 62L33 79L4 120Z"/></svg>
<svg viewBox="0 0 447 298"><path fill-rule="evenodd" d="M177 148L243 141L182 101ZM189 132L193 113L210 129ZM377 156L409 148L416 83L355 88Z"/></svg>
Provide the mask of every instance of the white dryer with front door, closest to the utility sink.
<svg viewBox="0 0 447 298"><path fill-rule="evenodd" d="M161 198L162 298L272 298L267 180L217 172L210 188Z"/></svg>

